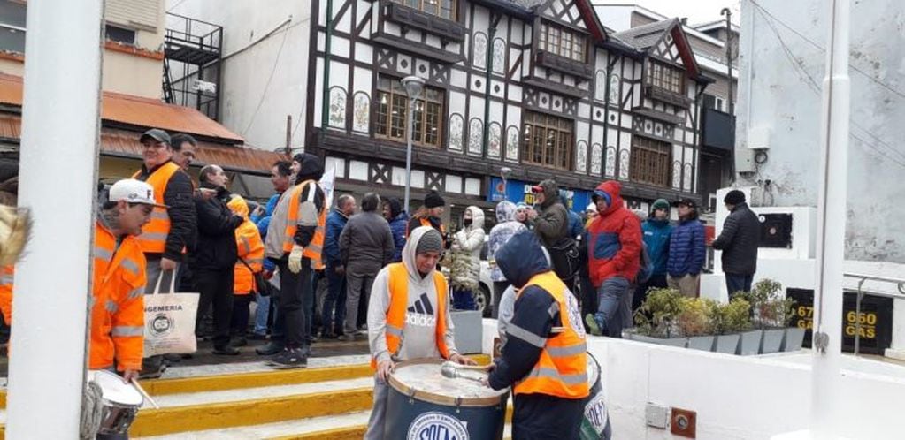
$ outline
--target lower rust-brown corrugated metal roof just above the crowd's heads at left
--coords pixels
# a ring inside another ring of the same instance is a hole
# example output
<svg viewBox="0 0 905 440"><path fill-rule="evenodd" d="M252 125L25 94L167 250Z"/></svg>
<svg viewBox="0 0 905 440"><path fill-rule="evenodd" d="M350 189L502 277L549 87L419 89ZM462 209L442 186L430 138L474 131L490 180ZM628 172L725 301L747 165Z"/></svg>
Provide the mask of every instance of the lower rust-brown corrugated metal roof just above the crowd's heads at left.
<svg viewBox="0 0 905 440"><path fill-rule="evenodd" d="M0 113L0 139L20 138L22 117L11 113ZM141 157L140 133L121 128L102 126L100 128L100 154L121 157ZM199 141L195 148L195 164L218 164L227 171L258 175L270 174L271 165L285 160L282 154L247 148L243 146L214 144Z"/></svg>

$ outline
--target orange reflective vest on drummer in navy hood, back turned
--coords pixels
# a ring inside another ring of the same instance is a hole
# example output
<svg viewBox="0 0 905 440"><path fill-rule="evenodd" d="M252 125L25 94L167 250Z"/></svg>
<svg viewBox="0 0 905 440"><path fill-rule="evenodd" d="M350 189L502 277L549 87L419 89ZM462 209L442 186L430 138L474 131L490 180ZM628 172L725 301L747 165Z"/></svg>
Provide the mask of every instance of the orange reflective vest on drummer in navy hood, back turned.
<svg viewBox="0 0 905 440"><path fill-rule="evenodd" d="M557 398L586 398L588 385L585 330L581 327L580 321L573 322L573 317L579 320L581 316L577 311L574 297L553 271L531 277L517 295L521 295L528 286L538 286L553 296L559 304L562 331L547 339L540 351L537 365L528 376L516 383L513 392L546 394ZM580 329L580 332L576 329Z"/></svg>

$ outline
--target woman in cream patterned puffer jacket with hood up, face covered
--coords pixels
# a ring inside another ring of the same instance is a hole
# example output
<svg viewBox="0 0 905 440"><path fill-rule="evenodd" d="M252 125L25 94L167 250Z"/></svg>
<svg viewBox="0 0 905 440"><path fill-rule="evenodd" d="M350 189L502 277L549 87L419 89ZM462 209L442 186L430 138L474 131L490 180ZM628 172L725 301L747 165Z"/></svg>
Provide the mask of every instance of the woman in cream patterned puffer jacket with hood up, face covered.
<svg viewBox="0 0 905 440"><path fill-rule="evenodd" d="M452 239L450 276L452 306L459 310L476 310L473 292L481 276L481 247L484 245L484 211L469 206L462 215L462 229Z"/></svg>

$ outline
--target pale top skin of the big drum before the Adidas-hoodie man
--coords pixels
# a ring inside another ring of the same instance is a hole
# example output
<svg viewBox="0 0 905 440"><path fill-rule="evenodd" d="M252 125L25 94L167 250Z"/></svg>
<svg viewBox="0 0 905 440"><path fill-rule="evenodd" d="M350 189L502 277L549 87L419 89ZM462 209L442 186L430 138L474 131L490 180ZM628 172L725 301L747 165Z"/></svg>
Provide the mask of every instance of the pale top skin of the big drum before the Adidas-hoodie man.
<svg viewBox="0 0 905 440"><path fill-rule="evenodd" d="M396 391L438 405L489 407L498 405L506 389L497 391L472 379L444 377L440 372L442 360L407 360L396 365L389 384ZM486 373L462 370L462 376L486 377Z"/></svg>

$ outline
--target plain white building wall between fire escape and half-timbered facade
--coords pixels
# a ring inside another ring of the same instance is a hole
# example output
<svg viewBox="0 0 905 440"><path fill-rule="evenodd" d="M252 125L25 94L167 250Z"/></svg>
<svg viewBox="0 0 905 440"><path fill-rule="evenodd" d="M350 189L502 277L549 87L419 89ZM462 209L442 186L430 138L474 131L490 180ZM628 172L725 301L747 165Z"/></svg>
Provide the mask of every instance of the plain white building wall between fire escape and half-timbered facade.
<svg viewBox="0 0 905 440"><path fill-rule="evenodd" d="M310 2L271 0L264 5L244 0L169 0L168 3L176 6L172 13L224 27L223 53L228 58L224 60L220 85L221 123L244 136L248 145L272 150L286 145L286 116L291 115L292 125L297 126L292 134L292 146L301 147L308 97ZM282 28L284 31L257 42L290 17L291 22Z"/></svg>

